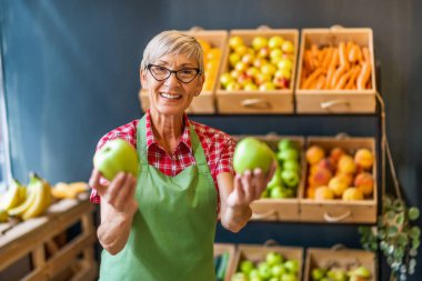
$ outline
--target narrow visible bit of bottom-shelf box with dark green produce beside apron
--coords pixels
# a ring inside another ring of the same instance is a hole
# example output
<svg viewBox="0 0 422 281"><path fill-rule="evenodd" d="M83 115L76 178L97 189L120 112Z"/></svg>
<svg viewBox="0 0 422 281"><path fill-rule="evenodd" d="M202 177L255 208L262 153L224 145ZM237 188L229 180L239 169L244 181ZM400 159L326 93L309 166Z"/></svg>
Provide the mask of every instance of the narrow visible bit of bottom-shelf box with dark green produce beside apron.
<svg viewBox="0 0 422 281"><path fill-rule="evenodd" d="M230 281L229 273L233 271L235 245L214 243L214 264L217 281Z"/></svg>

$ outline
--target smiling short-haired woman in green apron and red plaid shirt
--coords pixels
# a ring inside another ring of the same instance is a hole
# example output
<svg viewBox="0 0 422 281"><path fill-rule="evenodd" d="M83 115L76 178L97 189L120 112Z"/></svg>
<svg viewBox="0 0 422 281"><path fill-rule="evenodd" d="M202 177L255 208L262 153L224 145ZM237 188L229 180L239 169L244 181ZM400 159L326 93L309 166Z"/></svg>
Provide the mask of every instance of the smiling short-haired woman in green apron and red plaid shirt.
<svg viewBox="0 0 422 281"><path fill-rule="evenodd" d="M140 68L150 109L99 142L122 138L139 153L138 179L120 173L110 184L96 169L91 201L101 202L98 238L104 248L101 280L215 280L215 224L240 231L250 203L265 189L273 170L235 174L234 142L184 113L204 82L198 41L164 31L147 46Z"/></svg>

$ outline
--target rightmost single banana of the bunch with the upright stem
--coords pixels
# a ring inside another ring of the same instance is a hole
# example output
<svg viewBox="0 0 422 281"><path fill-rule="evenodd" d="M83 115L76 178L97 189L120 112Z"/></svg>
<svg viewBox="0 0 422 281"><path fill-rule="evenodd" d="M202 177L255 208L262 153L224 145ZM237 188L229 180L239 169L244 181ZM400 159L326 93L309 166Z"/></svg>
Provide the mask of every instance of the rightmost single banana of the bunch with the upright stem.
<svg viewBox="0 0 422 281"><path fill-rule="evenodd" d="M32 204L22 213L22 220L32 219L43 214L51 204L51 187L50 183L37 174L32 175L33 184L31 192L37 193ZM32 180L31 179L31 180Z"/></svg>

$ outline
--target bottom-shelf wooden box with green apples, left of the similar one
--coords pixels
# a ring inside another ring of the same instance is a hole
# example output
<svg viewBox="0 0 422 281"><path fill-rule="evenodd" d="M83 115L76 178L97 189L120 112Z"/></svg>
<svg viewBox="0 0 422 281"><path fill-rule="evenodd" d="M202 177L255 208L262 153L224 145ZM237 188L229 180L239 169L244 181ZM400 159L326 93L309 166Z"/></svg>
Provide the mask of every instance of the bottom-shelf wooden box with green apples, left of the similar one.
<svg viewBox="0 0 422 281"><path fill-rule="evenodd" d="M232 280L243 280L240 275L258 274L259 280L269 280L275 274L278 280L302 280L302 257L303 249L297 247L239 244L230 277ZM283 279L282 275L290 277Z"/></svg>

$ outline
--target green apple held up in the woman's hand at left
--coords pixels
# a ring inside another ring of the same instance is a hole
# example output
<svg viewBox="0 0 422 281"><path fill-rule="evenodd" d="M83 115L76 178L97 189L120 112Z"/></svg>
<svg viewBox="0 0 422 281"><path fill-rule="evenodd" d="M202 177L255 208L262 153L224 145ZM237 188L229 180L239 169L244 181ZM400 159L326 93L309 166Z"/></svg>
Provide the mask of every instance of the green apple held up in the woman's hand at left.
<svg viewBox="0 0 422 281"><path fill-rule="evenodd" d="M93 165L102 175L112 181L119 172L138 175L137 150L122 139L108 141L93 157Z"/></svg>

